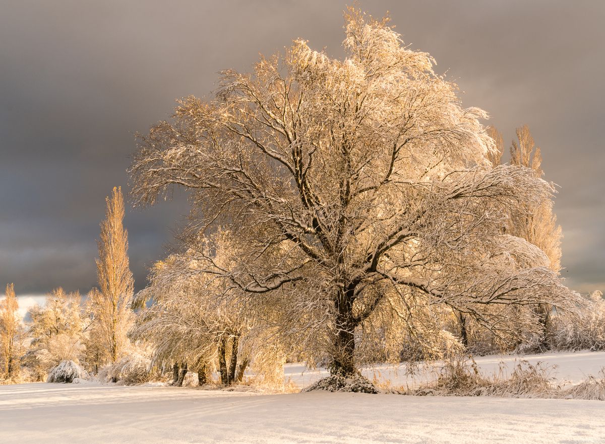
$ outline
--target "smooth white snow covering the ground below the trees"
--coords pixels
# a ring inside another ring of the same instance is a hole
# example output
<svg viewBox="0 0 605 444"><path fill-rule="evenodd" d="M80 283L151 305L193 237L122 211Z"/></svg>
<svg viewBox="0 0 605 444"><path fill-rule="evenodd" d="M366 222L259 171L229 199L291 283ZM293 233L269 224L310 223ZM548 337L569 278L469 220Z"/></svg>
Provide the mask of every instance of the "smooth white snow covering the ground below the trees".
<svg viewBox="0 0 605 444"><path fill-rule="evenodd" d="M528 359L557 364L561 379L574 382L605 365L605 353ZM485 370L497 370L499 361L494 356L477 360ZM301 370L296 365L287 368L297 382L321 376ZM42 442L605 443L605 402L320 392L266 395L98 384L0 387L0 443Z"/></svg>

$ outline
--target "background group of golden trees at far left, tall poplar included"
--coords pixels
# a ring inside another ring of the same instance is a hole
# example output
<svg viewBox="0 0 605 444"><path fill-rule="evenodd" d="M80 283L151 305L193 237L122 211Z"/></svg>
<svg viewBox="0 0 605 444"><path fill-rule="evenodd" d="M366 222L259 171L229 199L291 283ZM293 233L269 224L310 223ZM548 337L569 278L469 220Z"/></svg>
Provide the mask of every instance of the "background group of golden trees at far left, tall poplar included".
<svg viewBox="0 0 605 444"><path fill-rule="evenodd" d="M24 326L13 285L7 286L6 297L0 301L4 379L42 381L51 368L65 360L81 362L97 373L101 366L129 353L126 335L134 321L134 286L123 216L122 190L114 188L106 199L106 218L98 242L99 288L94 288L85 300L79 292L66 293L57 288L47 295L43 306L31 307L30 320ZM19 375L22 368L27 375Z"/></svg>

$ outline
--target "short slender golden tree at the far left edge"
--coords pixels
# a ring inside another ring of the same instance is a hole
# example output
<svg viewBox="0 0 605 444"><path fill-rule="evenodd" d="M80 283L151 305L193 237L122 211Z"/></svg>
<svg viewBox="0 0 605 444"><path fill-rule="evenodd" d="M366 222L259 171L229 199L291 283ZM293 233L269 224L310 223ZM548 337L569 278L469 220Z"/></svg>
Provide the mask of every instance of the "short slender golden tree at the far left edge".
<svg viewBox="0 0 605 444"><path fill-rule="evenodd" d="M2 347L3 372L5 378L15 376L19 335L22 331L19 303L15 285L7 284L5 297L0 301L0 346Z"/></svg>

